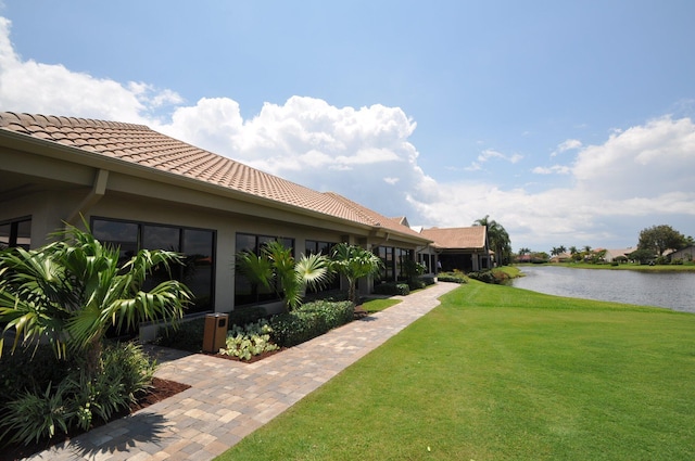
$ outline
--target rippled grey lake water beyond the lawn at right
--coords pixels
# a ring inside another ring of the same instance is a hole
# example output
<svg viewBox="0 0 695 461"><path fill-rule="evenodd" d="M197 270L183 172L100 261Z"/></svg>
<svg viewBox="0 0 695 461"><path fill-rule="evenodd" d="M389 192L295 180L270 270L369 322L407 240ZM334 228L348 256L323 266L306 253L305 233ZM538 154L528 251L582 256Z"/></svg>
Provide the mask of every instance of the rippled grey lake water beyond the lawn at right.
<svg viewBox="0 0 695 461"><path fill-rule="evenodd" d="M611 300L695 312L695 272L522 267L513 286L557 296Z"/></svg>

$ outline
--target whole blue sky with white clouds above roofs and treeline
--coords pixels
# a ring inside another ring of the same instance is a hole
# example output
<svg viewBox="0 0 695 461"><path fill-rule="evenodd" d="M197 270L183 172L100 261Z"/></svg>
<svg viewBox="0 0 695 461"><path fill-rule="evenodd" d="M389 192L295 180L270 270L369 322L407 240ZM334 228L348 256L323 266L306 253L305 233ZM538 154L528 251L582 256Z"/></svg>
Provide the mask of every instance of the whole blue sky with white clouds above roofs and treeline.
<svg viewBox="0 0 695 461"><path fill-rule="evenodd" d="M514 249L695 235L695 2L0 3L0 110L134 121Z"/></svg>

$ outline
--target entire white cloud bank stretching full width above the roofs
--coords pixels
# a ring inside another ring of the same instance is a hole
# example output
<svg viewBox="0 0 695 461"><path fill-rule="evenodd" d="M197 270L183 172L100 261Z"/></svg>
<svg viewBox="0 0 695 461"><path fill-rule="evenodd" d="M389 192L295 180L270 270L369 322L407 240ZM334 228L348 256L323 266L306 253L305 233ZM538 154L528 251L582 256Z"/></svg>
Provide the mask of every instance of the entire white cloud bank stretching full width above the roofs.
<svg viewBox="0 0 695 461"><path fill-rule="evenodd" d="M469 226L490 215L505 226L514 247L535 249L547 242L634 244L626 242L626 232L636 240L644 227L683 217L692 226L695 219L695 125L690 118L648 120L616 130L596 145L568 139L552 155L564 153L567 166L531 168L520 154L483 149L459 178L441 181L419 166L420 154L410 142L416 123L400 107L337 107L295 95L283 103L266 102L244 119L231 98L185 105L176 91L147 82L121 84L25 61L14 51L9 31L10 22L0 18L3 110L143 123L388 216L406 215L414 225ZM563 175L565 182L542 190L538 183L513 188L490 176L483 180L481 170L491 162ZM636 223L626 231L627 221Z"/></svg>

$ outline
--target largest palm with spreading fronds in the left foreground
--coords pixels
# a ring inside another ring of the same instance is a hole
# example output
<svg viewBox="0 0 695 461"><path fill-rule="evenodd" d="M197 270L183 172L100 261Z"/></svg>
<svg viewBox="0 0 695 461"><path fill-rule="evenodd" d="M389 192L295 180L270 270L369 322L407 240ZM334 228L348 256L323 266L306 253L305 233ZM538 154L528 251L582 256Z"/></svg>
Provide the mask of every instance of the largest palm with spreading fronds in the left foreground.
<svg viewBox="0 0 695 461"><path fill-rule="evenodd" d="M169 265L180 262L178 254L140 249L121 265L118 248L103 246L89 230L70 226L54 236L37 249L0 252L0 321L7 322L3 333L14 330L12 351L20 341L28 346L45 338L58 358L84 355L88 376L96 376L109 328L182 317L191 299L186 285L164 280L142 290L149 274L168 273Z"/></svg>

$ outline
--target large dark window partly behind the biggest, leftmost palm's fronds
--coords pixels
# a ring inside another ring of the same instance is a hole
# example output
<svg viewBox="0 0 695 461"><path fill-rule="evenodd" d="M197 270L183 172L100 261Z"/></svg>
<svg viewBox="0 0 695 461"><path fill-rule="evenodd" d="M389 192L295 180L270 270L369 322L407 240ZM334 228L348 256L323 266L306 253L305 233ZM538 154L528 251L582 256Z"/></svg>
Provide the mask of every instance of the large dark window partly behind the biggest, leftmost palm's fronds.
<svg viewBox="0 0 695 461"><path fill-rule="evenodd" d="M103 218L93 218L91 230L102 243L119 248L122 262L140 248L181 253L185 264L170 270L193 293L194 303L187 312L214 310L214 231ZM154 274L149 284L159 282Z"/></svg>

